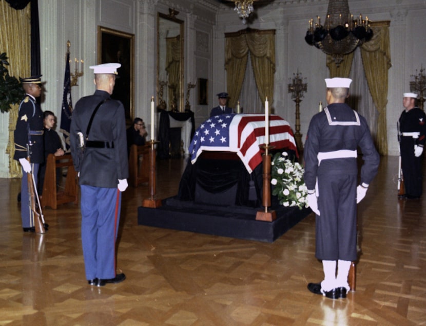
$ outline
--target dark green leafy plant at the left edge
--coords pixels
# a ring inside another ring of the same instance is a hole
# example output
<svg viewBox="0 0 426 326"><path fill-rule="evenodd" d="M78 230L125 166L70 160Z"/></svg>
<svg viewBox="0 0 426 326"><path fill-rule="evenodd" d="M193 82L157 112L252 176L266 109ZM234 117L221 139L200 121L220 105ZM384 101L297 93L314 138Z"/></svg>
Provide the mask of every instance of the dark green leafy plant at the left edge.
<svg viewBox="0 0 426 326"><path fill-rule="evenodd" d="M21 83L9 75L6 52L0 55L0 110L8 112L11 104L20 103L25 95Z"/></svg>

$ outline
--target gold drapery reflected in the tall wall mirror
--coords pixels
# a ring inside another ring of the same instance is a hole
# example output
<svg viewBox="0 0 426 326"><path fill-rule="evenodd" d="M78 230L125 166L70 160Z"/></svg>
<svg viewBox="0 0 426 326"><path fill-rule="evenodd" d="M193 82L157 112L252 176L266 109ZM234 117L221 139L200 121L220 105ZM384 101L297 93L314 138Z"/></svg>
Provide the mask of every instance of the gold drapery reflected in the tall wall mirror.
<svg viewBox="0 0 426 326"><path fill-rule="evenodd" d="M168 106L172 108L172 102L175 105L179 103L180 76L181 76L181 37L180 35L166 39L166 71L168 75ZM171 86L171 87L170 87ZM179 108L180 110L181 108Z"/></svg>

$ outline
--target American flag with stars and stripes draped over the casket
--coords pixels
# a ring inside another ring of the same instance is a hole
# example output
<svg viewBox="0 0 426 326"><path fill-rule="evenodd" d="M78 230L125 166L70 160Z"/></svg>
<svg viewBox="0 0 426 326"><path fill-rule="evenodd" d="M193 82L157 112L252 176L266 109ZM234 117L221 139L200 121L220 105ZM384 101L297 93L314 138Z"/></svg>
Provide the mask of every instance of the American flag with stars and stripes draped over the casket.
<svg viewBox="0 0 426 326"><path fill-rule="evenodd" d="M248 173L262 162L265 143L265 116L263 114L224 114L204 121L189 145L194 164L202 151L235 152ZM287 121L269 116L269 144L275 149L287 148L297 153L296 141Z"/></svg>

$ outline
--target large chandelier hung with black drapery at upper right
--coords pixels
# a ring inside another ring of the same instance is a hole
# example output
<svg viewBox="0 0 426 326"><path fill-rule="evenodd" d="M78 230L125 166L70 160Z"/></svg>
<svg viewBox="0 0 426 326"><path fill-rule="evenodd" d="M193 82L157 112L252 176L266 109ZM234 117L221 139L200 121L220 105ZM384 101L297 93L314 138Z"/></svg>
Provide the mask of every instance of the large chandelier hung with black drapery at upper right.
<svg viewBox="0 0 426 326"><path fill-rule="evenodd" d="M357 46L371 40L373 30L369 24L369 18L365 20L360 14L356 19L349 12L347 0L330 0L328 2L327 15L324 26L317 16L309 20L309 28L305 41L309 45L315 45L327 55L333 56L337 66L343 61L343 55L351 53Z"/></svg>

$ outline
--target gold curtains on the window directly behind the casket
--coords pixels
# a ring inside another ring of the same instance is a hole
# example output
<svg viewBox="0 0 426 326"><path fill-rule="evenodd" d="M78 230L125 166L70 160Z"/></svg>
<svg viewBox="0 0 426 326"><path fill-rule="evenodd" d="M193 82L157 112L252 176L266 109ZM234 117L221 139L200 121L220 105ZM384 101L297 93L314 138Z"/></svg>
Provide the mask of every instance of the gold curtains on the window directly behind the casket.
<svg viewBox="0 0 426 326"><path fill-rule="evenodd" d="M260 99L264 102L268 97L268 101L273 103L275 30L245 29L237 33L225 33L225 38L225 69L229 106L237 105L243 85L248 52L250 52Z"/></svg>

